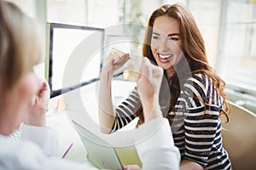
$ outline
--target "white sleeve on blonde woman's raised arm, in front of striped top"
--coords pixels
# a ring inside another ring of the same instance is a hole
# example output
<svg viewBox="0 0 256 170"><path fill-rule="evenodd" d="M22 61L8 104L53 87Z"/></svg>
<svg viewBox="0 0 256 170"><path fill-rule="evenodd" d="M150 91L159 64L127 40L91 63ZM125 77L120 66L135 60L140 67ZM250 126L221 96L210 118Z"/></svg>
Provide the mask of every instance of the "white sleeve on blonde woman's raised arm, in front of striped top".
<svg viewBox="0 0 256 170"><path fill-rule="evenodd" d="M174 145L171 127L166 118L143 123L138 128L136 141L143 169L179 169L179 150Z"/></svg>

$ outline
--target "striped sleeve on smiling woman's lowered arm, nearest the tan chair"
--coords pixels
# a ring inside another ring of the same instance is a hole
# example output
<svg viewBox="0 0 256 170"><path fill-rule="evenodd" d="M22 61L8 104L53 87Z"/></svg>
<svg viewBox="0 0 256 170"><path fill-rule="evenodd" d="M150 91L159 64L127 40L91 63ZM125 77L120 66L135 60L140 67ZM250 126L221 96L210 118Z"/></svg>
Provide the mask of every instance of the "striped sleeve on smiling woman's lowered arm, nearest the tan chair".
<svg viewBox="0 0 256 170"><path fill-rule="evenodd" d="M206 75L194 75L185 82L177 103L183 103L183 159L207 166L218 134L221 99Z"/></svg>

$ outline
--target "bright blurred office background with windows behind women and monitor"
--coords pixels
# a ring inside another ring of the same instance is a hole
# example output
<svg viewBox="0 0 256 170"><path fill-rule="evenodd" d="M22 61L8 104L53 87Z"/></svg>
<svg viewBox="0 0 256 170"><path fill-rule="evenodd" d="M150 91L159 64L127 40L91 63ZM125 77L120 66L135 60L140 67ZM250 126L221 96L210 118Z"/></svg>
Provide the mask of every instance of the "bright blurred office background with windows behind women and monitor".
<svg viewBox="0 0 256 170"><path fill-rule="evenodd" d="M227 99L256 114L256 0L154 0L150 3L148 0L9 1L39 20L45 31L47 22L102 28L105 30L104 44L108 44L111 38L111 41L124 37L140 41L148 17L155 8L166 3L182 3L194 15L201 30L210 64L226 82ZM120 25L128 26L128 29L113 29ZM137 43L125 43L119 48L131 54L141 53L141 45ZM104 55L108 52L109 48ZM128 67L135 63L136 59ZM44 71L38 74L45 76ZM131 73L124 73L118 79L134 82Z"/></svg>

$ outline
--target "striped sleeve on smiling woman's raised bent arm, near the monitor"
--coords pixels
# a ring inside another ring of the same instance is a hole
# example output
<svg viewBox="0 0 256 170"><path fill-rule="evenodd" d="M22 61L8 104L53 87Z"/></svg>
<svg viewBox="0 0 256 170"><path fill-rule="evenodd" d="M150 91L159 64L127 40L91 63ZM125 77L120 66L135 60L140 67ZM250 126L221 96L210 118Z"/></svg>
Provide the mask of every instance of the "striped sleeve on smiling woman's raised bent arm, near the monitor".
<svg viewBox="0 0 256 170"><path fill-rule="evenodd" d="M140 108L141 101L134 88L130 96L115 109L115 121L113 122L112 133L135 119L134 113Z"/></svg>

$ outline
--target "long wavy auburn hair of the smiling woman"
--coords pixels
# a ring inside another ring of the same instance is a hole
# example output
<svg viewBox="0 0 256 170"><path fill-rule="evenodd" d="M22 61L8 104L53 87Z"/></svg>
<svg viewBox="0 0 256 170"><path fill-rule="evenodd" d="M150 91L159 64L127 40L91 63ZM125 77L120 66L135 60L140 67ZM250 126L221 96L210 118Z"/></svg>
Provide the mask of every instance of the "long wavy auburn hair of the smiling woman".
<svg viewBox="0 0 256 170"><path fill-rule="evenodd" d="M212 86L218 92L218 94L224 100L224 106L220 112L220 116L226 116L226 122L229 122L228 113L230 112L230 106L228 105L227 99L224 94L225 82L222 80L216 72L209 65L207 60L207 53L205 48L204 40L201 36L201 32L198 26L195 23L193 15L189 12L187 8L184 8L182 5L175 4L166 4L154 10L148 20L148 27L146 29L146 34L143 43L143 56L148 57L151 61L157 65L154 56L152 54L150 44L152 31L154 26L154 20L157 17L166 15L178 21L179 31L181 37L181 44L183 48L184 58L175 66L176 71L179 72L172 76L172 82L166 82L166 79L163 78L162 86L160 88L160 105L163 111L163 115L166 116L172 124L172 117L168 115L170 111L175 113L175 104L177 98L181 92L181 88L185 80L191 76L191 74L202 73L207 75L211 79ZM185 64L189 66L189 71L185 68ZM165 72L165 77L167 77ZM166 88L166 86L169 86ZM170 90L170 93L166 93L166 89ZM168 95L171 97L168 98ZM168 102L166 101L168 100ZM205 101L203 101L205 102ZM163 107L163 105L168 105L168 107ZM206 106L205 106L206 107ZM167 108L167 109L166 109ZM143 108L141 107L136 113L136 116L139 116L139 122L137 126L144 122L143 119Z"/></svg>

